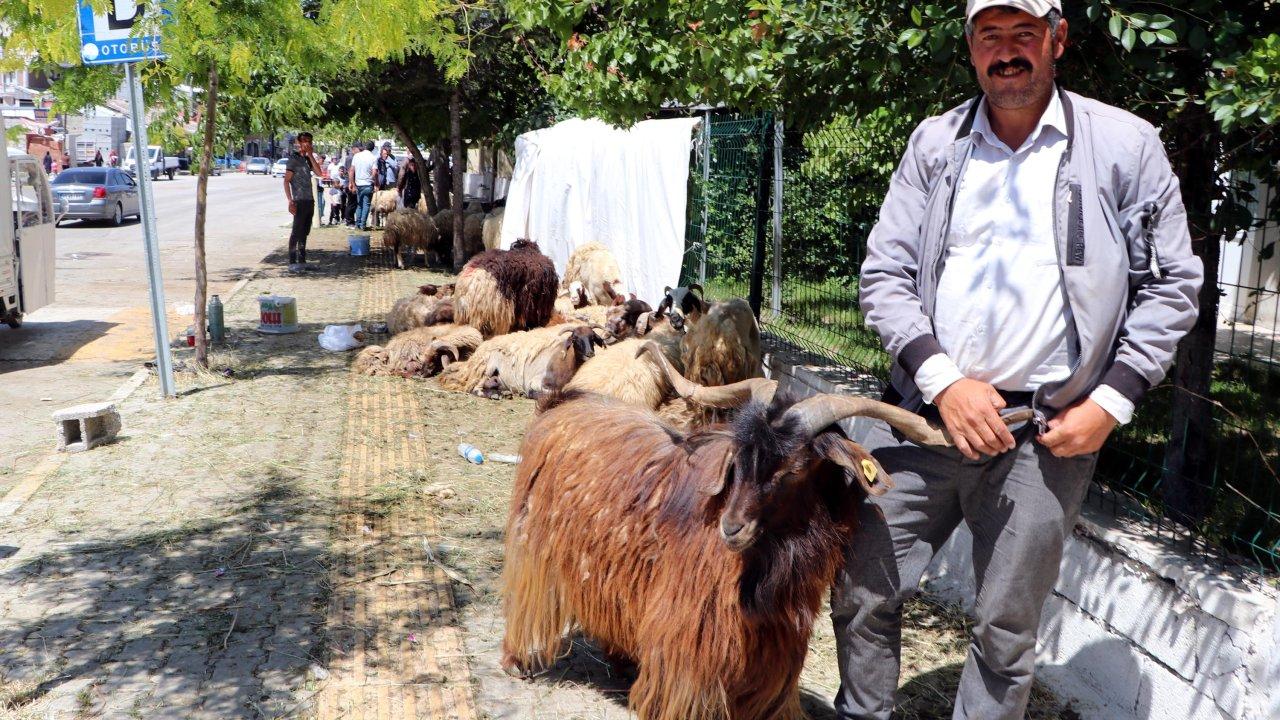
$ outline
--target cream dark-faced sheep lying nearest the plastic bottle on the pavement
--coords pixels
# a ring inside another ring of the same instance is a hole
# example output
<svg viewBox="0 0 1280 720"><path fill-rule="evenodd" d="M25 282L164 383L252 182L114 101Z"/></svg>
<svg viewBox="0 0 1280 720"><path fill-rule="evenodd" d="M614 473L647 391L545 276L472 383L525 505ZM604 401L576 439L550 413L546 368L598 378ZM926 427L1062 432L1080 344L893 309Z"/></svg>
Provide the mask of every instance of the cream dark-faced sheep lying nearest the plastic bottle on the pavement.
<svg viewBox="0 0 1280 720"><path fill-rule="evenodd" d="M489 338L440 375L440 387L490 398L558 391L604 345L596 329L568 323Z"/></svg>

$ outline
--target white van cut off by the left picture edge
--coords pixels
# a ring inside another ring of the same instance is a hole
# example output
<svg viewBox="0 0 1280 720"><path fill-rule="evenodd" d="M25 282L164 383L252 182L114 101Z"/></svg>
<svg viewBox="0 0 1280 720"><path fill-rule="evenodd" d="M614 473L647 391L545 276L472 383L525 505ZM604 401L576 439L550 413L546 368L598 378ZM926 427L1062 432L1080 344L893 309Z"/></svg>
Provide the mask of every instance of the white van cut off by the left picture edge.
<svg viewBox="0 0 1280 720"><path fill-rule="evenodd" d="M40 160L6 149L0 154L0 320L10 328L54 301L56 220Z"/></svg>

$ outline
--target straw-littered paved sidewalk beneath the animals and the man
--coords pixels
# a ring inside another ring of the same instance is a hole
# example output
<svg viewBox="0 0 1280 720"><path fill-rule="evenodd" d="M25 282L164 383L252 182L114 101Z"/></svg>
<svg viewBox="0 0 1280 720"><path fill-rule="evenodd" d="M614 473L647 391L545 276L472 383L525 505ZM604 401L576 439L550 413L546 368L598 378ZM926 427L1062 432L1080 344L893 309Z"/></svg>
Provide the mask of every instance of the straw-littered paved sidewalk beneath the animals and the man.
<svg viewBox="0 0 1280 720"><path fill-rule="evenodd" d="M532 402L352 375L316 333L447 278L349 258L337 228L312 238L317 272L269 258L228 302L212 366L232 377L184 373L170 401L148 379L116 443L65 456L0 516L0 717L630 717L626 682L580 639L535 680L499 669L515 468L457 445L516 454ZM255 332L260 292L297 297L302 332ZM948 716L963 616L908 616L902 717ZM833 651L819 623L817 720ZM1029 717L1071 715L1038 693Z"/></svg>

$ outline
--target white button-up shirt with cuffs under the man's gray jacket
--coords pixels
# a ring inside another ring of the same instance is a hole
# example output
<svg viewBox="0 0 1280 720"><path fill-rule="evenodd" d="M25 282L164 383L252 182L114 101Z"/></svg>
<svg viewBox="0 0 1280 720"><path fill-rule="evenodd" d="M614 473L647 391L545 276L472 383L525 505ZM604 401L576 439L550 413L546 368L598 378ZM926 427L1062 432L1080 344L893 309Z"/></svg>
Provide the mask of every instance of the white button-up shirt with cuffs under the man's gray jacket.
<svg viewBox="0 0 1280 720"><path fill-rule="evenodd" d="M1053 193L1066 151L1066 117L1055 92L1016 151L992 131L987 101L973 122L969 163L956 188L933 328L945 354L915 383L925 402L961 378L1034 391L1071 373L1071 320L1053 234ZM1091 397L1117 421L1133 404L1100 386Z"/></svg>

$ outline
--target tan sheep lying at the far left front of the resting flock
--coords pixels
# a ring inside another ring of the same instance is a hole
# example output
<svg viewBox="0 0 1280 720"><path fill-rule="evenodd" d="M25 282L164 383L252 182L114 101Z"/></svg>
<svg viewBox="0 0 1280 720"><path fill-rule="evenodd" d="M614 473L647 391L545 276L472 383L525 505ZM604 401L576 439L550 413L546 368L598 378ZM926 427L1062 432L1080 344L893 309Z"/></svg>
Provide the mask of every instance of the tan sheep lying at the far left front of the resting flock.
<svg viewBox="0 0 1280 720"><path fill-rule="evenodd" d="M470 357L480 342L480 333L470 325L413 328L393 337L385 347L370 345L361 350L352 370L365 375L431 377Z"/></svg>

